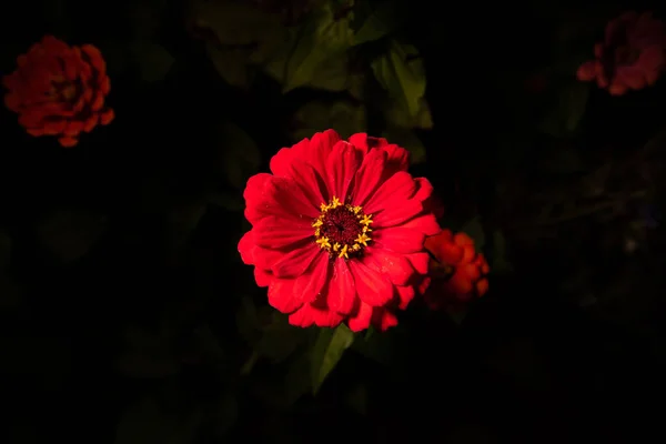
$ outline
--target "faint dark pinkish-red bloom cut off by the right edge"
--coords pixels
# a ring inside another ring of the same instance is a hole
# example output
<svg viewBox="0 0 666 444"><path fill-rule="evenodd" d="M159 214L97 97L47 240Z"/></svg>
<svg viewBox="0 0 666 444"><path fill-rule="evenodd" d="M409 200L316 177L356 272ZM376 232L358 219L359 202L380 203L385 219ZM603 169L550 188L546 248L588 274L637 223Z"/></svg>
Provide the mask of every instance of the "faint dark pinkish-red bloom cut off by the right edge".
<svg viewBox="0 0 666 444"><path fill-rule="evenodd" d="M583 63L577 77L596 79L613 95L653 85L666 67L666 28L652 13L625 12L606 26L603 42L594 47L595 60Z"/></svg>

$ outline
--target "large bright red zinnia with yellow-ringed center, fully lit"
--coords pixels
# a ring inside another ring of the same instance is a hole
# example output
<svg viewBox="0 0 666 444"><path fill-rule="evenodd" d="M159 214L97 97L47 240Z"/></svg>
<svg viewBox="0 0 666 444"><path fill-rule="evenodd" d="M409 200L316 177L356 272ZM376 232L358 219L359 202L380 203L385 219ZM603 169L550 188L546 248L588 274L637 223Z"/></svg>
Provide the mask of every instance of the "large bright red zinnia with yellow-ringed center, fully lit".
<svg viewBox="0 0 666 444"><path fill-rule="evenodd" d="M385 139L327 130L284 148L273 174L245 188L252 230L239 251L269 303L296 326L361 331L395 325L427 273L426 179L407 173L408 152Z"/></svg>

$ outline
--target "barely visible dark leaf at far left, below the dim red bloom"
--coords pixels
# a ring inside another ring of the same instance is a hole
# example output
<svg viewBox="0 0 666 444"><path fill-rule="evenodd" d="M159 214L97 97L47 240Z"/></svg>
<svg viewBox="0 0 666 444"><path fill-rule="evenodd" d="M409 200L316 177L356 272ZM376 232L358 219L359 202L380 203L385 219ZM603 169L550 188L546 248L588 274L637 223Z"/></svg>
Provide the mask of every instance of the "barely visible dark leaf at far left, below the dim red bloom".
<svg viewBox="0 0 666 444"><path fill-rule="evenodd" d="M62 264L82 258L101 238L107 218L83 211L58 211L37 226L40 243Z"/></svg>

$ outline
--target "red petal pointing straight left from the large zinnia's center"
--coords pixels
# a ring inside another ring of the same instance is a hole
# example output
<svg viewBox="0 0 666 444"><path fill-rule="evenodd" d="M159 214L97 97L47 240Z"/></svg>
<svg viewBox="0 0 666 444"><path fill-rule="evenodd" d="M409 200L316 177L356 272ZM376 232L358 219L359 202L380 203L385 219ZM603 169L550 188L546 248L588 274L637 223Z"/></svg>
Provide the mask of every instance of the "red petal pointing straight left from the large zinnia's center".
<svg viewBox="0 0 666 444"><path fill-rule="evenodd" d="M314 235L314 229L307 221L285 221L273 215L260 219L252 231L254 242L269 249L281 249Z"/></svg>

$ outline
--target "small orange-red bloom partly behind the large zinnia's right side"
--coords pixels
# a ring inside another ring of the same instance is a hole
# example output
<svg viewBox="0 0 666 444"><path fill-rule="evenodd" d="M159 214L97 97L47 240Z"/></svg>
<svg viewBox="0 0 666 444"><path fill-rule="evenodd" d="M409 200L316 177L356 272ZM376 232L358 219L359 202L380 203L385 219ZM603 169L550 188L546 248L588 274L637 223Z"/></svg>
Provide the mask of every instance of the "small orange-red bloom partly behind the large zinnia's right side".
<svg viewBox="0 0 666 444"><path fill-rule="evenodd" d="M488 291L488 264L483 254L476 253L467 234L453 235L451 230L443 230L427 238L425 248L432 254L430 287L424 294L431 309L468 302Z"/></svg>

